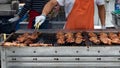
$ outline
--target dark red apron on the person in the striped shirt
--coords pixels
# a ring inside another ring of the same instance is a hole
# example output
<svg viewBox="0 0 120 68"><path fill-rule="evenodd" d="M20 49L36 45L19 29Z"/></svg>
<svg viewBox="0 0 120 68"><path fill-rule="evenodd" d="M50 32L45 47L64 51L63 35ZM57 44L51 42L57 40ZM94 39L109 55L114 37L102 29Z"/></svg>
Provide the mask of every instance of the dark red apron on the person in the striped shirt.
<svg viewBox="0 0 120 68"><path fill-rule="evenodd" d="M36 12L35 10L30 10L28 29L32 29L32 26L34 25L35 17L39 16L39 15L40 15L40 13Z"/></svg>

